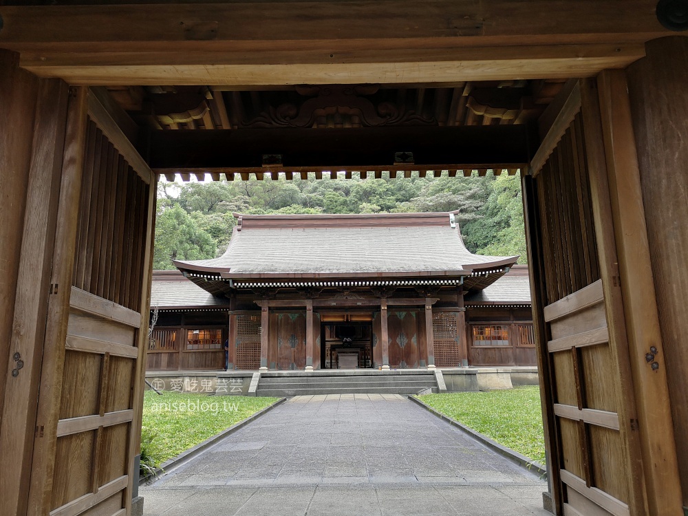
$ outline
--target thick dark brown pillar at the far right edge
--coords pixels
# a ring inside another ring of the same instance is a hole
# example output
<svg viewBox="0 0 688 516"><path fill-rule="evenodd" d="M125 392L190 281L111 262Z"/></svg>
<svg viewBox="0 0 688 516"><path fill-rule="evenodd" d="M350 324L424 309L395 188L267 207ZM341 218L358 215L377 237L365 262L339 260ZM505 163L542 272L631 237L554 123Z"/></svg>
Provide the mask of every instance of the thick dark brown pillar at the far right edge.
<svg viewBox="0 0 688 516"><path fill-rule="evenodd" d="M638 151L645 222L664 345L671 416L688 510L688 41L650 41L647 57L628 72L630 108Z"/></svg>

